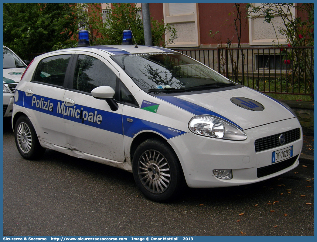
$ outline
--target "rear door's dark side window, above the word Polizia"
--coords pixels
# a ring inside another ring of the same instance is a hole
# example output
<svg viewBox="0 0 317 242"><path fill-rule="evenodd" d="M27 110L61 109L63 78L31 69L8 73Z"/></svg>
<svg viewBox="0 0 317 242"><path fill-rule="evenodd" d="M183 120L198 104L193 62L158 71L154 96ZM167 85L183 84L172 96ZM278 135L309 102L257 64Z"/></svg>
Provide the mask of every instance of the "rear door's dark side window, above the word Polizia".
<svg viewBox="0 0 317 242"><path fill-rule="evenodd" d="M36 68L33 81L63 86L71 55L56 55L43 59Z"/></svg>

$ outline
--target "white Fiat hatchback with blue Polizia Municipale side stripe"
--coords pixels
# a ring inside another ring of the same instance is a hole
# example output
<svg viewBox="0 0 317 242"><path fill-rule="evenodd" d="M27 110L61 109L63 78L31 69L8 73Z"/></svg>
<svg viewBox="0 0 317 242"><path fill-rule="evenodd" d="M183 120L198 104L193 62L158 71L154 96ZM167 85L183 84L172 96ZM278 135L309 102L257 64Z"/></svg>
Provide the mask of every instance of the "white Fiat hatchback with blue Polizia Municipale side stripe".
<svg viewBox="0 0 317 242"><path fill-rule="evenodd" d="M118 45L36 57L12 125L26 159L44 149L133 172L154 201L191 188L259 182L298 165L289 107L176 51Z"/></svg>

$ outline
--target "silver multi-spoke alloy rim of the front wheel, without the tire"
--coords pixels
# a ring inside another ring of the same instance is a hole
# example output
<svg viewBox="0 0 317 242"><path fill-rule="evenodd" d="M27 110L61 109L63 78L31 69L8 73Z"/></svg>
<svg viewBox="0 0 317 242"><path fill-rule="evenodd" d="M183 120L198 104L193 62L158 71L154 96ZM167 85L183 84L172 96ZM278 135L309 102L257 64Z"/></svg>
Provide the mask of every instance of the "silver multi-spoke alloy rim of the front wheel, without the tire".
<svg viewBox="0 0 317 242"><path fill-rule="evenodd" d="M170 166L157 150L145 151L138 162L139 178L143 186L152 193L164 192L171 181Z"/></svg>

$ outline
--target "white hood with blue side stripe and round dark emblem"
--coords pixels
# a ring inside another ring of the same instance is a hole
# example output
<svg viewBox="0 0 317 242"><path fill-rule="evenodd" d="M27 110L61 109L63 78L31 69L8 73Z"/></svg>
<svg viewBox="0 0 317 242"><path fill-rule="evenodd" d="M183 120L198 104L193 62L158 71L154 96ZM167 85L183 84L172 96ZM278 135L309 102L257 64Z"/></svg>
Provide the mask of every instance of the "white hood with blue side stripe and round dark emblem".
<svg viewBox="0 0 317 242"><path fill-rule="evenodd" d="M245 130L294 115L280 102L248 87L191 95L159 97L195 115L210 114Z"/></svg>

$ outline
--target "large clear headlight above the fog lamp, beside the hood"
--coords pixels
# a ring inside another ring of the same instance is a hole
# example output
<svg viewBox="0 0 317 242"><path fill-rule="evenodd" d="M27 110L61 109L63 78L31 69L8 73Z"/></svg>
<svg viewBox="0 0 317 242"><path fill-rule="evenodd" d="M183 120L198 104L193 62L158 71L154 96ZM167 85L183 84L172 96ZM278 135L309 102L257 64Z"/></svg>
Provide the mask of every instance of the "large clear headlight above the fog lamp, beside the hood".
<svg viewBox="0 0 317 242"><path fill-rule="evenodd" d="M200 115L188 124L191 132L203 136L229 140L245 140L247 135L233 124L211 115Z"/></svg>

